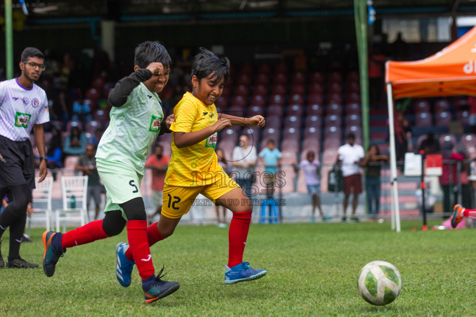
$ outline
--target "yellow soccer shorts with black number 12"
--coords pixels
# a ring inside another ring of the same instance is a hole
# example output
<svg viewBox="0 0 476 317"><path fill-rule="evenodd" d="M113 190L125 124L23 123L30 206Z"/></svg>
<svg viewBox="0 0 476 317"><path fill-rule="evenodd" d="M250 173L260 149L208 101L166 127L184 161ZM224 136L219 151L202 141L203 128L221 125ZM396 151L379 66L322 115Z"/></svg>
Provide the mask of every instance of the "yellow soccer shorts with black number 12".
<svg viewBox="0 0 476 317"><path fill-rule="evenodd" d="M195 201L198 194L215 203L218 198L235 188L239 188L239 185L226 174L207 186L184 187L165 184L162 214L168 218L180 218L190 210L192 204L200 203Z"/></svg>

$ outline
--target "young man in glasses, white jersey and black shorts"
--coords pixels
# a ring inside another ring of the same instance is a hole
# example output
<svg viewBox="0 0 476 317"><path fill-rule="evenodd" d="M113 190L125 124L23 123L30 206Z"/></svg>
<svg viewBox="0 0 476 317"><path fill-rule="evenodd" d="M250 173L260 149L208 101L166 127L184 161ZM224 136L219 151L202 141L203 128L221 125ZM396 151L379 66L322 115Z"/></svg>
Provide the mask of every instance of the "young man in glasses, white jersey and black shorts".
<svg viewBox="0 0 476 317"><path fill-rule="evenodd" d="M0 197L9 190L13 201L0 215L0 237L10 227L10 268L35 268L20 258L20 242L25 230L30 190L35 188L35 164L30 133L35 134L40 153L40 182L47 172L43 124L50 121L46 93L35 85L45 70L43 54L37 48L21 53L21 76L0 83ZM0 252L0 267L4 266Z"/></svg>

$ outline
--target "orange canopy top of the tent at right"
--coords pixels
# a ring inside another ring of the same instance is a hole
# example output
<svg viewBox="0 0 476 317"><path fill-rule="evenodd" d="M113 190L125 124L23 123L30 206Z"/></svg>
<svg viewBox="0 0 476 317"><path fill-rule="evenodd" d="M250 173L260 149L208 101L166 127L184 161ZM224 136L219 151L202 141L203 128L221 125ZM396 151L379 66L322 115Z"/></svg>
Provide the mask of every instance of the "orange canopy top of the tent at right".
<svg viewBox="0 0 476 317"><path fill-rule="evenodd" d="M476 96L476 27L428 58L387 61L385 82L395 99Z"/></svg>

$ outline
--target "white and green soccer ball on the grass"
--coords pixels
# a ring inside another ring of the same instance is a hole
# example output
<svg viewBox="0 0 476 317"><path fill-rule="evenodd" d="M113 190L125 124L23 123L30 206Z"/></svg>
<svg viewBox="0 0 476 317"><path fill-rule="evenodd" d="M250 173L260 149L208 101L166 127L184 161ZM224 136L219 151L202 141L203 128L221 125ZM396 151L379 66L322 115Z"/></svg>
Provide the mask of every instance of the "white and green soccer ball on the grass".
<svg viewBox="0 0 476 317"><path fill-rule="evenodd" d="M402 289L402 277L393 264L385 261L367 263L357 275L357 289L366 302L387 305Z"/></svg>

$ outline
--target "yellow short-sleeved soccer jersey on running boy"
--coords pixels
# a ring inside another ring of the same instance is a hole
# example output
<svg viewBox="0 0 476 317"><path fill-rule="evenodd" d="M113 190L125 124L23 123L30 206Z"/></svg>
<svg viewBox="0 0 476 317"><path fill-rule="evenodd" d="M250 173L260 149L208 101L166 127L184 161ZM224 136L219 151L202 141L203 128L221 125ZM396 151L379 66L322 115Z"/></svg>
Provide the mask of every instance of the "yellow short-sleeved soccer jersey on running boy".
<svg viewBox="0 0 476 317"><path fill-rule="evenodd" d="M218 164L215 153L217 133L188 147L179 149L175 145L175 132L194 132L217 122L215 105L206 106L191 93L186 92L175 106L174 115L175 122L170 126L172 155L165 183L172 186L195 187L211 185L220 180L223 168Z"/></svg>

